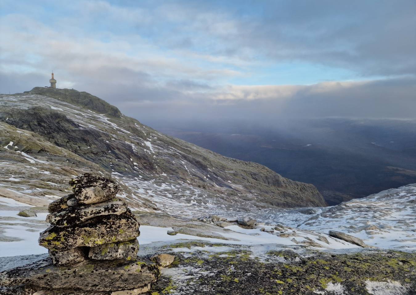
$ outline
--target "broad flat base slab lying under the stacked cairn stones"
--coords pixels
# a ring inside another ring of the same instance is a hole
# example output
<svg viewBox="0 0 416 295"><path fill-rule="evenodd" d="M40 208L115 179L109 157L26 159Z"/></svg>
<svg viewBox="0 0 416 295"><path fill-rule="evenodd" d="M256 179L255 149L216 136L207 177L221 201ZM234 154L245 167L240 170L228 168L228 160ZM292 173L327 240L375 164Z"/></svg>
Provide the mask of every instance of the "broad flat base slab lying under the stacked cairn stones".
<svg viewBox="0 0 416 295"><path fill-rule="evenodd" d="M37 290L74 289L119 291L146 287L159 277L158 266L149 260L88 260L71 267L53 266L49 258L0 274L0 286L34 285ZM71 294L71 293L69 293Z"/></svg>

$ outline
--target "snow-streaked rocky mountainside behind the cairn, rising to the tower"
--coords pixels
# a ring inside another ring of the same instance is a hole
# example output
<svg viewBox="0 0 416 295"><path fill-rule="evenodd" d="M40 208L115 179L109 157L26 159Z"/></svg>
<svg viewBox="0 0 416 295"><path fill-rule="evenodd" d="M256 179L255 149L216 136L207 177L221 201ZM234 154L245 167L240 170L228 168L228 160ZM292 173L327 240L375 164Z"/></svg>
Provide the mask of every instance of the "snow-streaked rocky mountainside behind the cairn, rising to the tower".
<svg viewBox="0 0 416 295"><path fill-rule="evenodd" d="M46 205L71 176L97 171L142 211L325 205L313 185L161 134L89 93L36 87L0 105L1 196Z"/></svg>

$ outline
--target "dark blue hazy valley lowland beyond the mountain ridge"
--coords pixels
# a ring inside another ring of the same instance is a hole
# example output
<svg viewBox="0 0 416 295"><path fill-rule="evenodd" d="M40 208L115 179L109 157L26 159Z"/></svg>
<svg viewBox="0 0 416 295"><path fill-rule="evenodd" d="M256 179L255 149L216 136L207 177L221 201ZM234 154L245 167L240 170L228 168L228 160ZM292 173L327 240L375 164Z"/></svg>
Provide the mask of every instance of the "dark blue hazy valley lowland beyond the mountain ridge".
<svg viewBox="0 0 416 295"><path fill-rule="evenodd" d="M416 182L416 121L310 119L158 126L224 156L314 184L329 205ZM190 127L191 126L191 127Z"/></svg>

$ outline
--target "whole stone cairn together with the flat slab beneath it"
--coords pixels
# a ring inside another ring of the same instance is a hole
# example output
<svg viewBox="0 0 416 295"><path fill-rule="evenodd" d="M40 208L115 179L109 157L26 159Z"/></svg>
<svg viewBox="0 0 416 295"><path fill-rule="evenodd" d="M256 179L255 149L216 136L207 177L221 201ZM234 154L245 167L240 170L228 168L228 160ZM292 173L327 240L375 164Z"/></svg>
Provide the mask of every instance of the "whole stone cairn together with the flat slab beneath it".
<svg viewBox="0 0 416 295"><path fill-rule="evenodd" d="M51 226L39 238L53 266L38 271L37 279L30 275L32 281L41 290L110 295L148 291L159 268L138 260L140 224L127 204L116 198L119 186L89 173L71 179L69 185L73 194L50 203L46 220Z"/></svg>

